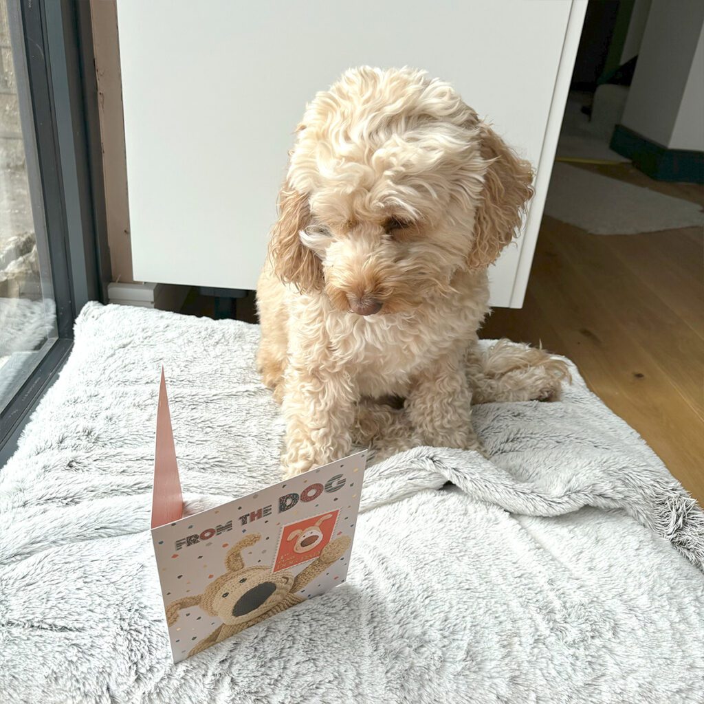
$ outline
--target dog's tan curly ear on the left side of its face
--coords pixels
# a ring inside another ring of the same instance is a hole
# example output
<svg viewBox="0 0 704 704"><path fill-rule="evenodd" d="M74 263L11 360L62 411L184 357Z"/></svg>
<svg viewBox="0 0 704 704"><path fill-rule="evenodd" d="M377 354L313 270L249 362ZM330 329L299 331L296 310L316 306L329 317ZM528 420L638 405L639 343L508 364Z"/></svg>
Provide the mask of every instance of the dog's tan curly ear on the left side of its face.
<svg viewBox="0 0 704 704"><path fill-rule="evenodd" d="M299 232L310 224L308 196L284 183L279 192L279 219L272 230L269 257L275 275L301 291L320 291L323 286L322 265L308 249Z"/></svg>

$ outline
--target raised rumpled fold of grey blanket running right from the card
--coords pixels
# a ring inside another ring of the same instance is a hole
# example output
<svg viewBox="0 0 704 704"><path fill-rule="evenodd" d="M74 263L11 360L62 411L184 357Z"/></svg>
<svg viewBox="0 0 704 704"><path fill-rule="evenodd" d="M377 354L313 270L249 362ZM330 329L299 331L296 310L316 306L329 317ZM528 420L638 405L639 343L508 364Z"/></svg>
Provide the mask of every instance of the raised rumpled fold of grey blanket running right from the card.
<svg viewBox="0 0 704 704"><path fill-rule="evenodd" d="M451 482L467 496L501 506L510 513L558 516L584 506L621 508L667 539L704 571L704 512L676 479L657 464L594 467L589 481L555 474L549 482L526 482L475 452L415 448L370 468L362 510L398 501L420 488ZM574 465L570 474L574 472ZM547 479L547 477L542 477Z"/></svg>

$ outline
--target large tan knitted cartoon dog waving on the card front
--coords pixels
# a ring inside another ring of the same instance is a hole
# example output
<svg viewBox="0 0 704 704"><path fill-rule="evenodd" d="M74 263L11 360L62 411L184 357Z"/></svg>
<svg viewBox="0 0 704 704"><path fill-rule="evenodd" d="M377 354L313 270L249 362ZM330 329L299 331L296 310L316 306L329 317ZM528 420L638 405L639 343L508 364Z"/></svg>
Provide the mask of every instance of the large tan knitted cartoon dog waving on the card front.
<svg viewBox="0 0 704 704"><path fill-rule="evenodd" d="M306 601L297 592L337 562L352 542L348 536L343 535L328 543L318 558L294 577L290 572L272 572L271 567L263 565L245 567L242 551L260 539L258 533L241 539L227 553L225 574L209 584L202 594L177 599L166 607L166 620L170 626L177 622L180 610L190 606L199 606L210 616L222 621L220 627L191 650L189 657Z"/></svg>

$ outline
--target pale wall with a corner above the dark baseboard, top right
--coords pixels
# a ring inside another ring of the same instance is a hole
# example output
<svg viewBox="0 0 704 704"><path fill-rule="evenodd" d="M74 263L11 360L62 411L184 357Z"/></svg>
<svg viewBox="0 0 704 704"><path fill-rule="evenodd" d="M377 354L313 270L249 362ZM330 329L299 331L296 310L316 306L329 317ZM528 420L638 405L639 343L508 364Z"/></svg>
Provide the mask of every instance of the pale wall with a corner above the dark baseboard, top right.
<svg viewBox="0 0 704 704"><path fill-rule="evenodd" d="M692 74L693 81L701 75L701 68L693 70L693 62L701 62L696 52L703 26L702 0L653 0L623 113L624 127L668 148L702 149L681 144L696 143L691 139L695 122L703 118L697 109L701 86L689 84Z"/></svg>

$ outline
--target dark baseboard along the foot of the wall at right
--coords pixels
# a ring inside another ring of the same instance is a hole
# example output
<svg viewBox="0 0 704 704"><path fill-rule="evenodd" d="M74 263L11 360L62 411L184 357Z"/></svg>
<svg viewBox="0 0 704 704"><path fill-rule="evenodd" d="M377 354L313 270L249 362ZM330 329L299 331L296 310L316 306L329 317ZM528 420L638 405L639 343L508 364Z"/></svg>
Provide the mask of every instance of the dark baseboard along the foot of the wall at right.
<svg viewBox="0 0 704 704"><path fill-rule="evenodd" d="M667 149L623 125L616 125L610 148L655 180L704 183L703 151Z"/></svg>

